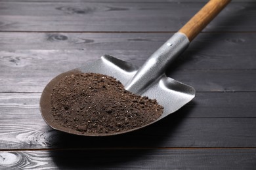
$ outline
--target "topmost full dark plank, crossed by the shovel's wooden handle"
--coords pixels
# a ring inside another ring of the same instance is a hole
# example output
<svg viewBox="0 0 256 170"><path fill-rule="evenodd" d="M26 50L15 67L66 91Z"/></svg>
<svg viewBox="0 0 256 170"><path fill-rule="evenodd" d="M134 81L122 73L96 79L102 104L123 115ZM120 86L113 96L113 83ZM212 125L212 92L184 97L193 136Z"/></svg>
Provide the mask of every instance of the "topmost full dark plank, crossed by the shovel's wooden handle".
<svg viewBox="0 0 256 170"><path fill-rule="evenodd" d="M178 31L204 4L1 1L0 31ZM231 3L204 31L255 31L255 5Z"/></svg>

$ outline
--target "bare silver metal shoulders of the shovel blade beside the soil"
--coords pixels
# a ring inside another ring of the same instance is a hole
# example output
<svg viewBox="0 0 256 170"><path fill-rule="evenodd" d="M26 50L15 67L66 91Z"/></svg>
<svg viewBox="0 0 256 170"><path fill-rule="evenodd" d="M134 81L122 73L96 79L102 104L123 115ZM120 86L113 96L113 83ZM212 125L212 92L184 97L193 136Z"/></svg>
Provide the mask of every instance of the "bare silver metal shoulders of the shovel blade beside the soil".
<svg viewBox="0 0 256 170"><path fill-rule="evenodd" d="M122 84L129 83L138 72L137 66L108 55L102 56L94 63L88 63L77 70L82 73L100 73L113 76ZM137 94L156 99L163 106L161 119L192 100L195 96L195 90L191 86L169 78L163 73L152 84L144 88L142 92L137 92Z"/></svg>

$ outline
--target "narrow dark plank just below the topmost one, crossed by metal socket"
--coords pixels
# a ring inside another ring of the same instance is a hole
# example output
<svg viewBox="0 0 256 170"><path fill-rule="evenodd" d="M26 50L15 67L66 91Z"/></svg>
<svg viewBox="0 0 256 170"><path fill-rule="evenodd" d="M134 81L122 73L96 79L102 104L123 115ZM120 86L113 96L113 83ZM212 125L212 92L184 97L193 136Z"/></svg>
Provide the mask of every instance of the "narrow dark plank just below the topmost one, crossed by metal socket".
<svg viewBox="0 0 256 170"><path fill-rule="evenodd" d="M111 54L140 66L171 35L173 34L0 33L1 67L4 65L14 67L16 64L19 65L17 67L21 67L22 63L28 60L23 58L32 55L42 55L39 59L48 61L54 58L53 55L58 55L55 58L62 60L61 54L64 54L63 58L68 58L65 53L68 53L70 58L74 58L73 65L81 65L89 57L96 59L103 54ZM178 59L174 69L256 69L255 46L256 33L202 33ZM53 54L47 56L43 54L43 52L47 53L45 50ZM64 51L56 52L56 50ZM18 57L21 61L11 62ZM38 61L37 58L33 60Z"/></svg>

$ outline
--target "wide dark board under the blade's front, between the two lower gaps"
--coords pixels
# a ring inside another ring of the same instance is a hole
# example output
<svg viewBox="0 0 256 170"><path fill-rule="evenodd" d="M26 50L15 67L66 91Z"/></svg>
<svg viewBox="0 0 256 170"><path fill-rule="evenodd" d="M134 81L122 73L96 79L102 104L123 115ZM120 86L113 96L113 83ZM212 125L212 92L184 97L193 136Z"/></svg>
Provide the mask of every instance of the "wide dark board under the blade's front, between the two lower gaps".
<svg viewBox="0 0 256 170"><path fill-rule="evenodd" d="M1 93L1 149L102 147L256 147L254 93L200 93L156 124L116 137L77 137L41 118L38 93ZM223 101L226 101L223 103ZM247 108L250 108L247 110Z"/></svg>

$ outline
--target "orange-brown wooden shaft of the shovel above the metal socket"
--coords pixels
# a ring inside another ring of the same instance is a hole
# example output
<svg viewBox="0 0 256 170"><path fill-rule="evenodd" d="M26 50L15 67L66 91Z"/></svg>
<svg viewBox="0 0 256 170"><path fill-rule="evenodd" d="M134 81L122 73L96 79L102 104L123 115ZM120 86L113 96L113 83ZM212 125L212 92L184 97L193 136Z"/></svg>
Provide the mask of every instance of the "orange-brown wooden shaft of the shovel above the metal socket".
<svg viewBox="0 0 256 170"><path fill-rule="evenodd" d="M231 0L211 0L194 15L180 30L191 42L202 29L228 5Z"/></svg>

